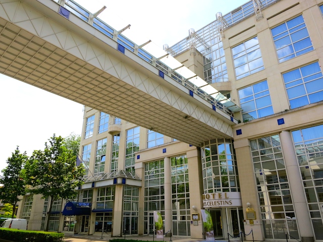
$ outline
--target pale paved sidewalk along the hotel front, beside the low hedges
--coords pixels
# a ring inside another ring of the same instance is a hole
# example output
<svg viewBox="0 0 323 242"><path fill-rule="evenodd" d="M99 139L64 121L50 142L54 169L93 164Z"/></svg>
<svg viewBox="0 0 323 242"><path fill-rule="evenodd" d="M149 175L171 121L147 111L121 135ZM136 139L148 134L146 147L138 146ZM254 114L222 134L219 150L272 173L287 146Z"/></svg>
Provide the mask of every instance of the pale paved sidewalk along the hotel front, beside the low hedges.
<svg viewBox="0 0 323 242"><path fill-rule="evenodd" d="M111 237L110 234L93 234L93 235L85 235L85 234L74 234L72 232L64 232L65 237L64 241L65 242L96 242L96 241L109 241L110 239L117 239L117 238L125 238L123 237ZM126 239L135 239L135 240L146 240L146 241L156 241L156 242L168 242L170 241L171 237L164 237L164 240L161 238L156 238L156 236L152 235L138 235L138 236L127 236ZM184 236L172 236L172 241L176 242L200 242L203 241L203 239L193 239L190 237L184 237Z"/></svg>

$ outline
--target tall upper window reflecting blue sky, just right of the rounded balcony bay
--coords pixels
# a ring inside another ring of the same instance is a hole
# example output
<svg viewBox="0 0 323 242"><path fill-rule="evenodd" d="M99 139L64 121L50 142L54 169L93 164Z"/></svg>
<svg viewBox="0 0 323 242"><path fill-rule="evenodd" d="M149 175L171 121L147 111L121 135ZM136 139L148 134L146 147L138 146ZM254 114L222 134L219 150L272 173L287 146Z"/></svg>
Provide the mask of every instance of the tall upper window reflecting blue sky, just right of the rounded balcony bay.
<svg viewBox="0 0 323 242"><path fill-rule="evenodd" d="M125 169L130 172L135 171L135 152L139 151L139 131L139 127L127 130Z"/></svg>

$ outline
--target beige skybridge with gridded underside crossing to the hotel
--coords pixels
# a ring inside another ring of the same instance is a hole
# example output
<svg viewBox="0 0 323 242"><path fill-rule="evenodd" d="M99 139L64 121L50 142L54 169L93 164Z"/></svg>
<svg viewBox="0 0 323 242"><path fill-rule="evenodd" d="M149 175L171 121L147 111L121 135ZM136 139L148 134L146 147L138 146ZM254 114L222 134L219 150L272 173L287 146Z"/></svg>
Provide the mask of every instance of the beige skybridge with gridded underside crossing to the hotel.
<svg viewBox="0 0 323 242"><path fill-rule="evenodd" d="M238 106L98 13L73 1L0 0L0 73L194 146L232 138Z"/></svg>

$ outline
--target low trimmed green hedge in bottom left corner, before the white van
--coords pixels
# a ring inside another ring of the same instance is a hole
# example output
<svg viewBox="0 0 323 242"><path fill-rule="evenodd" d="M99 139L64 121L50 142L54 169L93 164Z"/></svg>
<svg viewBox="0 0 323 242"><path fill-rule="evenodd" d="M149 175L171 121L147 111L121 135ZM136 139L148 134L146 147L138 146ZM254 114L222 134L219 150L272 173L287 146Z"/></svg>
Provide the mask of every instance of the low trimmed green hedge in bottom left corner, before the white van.
<svg viewBox="0 0 323 242"><path fill-rule="evenodd" d="M19 242L59 242L64 233L0 228L0 238Z"/></svg>

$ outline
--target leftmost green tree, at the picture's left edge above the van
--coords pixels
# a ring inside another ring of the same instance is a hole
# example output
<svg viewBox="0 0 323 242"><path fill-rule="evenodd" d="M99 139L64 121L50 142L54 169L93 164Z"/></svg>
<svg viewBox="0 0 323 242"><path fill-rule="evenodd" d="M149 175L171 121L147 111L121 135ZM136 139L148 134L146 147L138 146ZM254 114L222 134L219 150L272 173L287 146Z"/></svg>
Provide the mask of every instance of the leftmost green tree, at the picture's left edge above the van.
<svg viewBox="0 0 323 242"><path fill-rule="evenodd" d="M24 164L28 161L26 152L20 153L19 146L12 156L8 157L7 167L2 170L3 175L0 177L0 200L13 206L12 218L16 213L16 204L20 201L18 198L26 193L24 177Z"/></svg>

